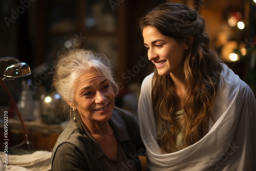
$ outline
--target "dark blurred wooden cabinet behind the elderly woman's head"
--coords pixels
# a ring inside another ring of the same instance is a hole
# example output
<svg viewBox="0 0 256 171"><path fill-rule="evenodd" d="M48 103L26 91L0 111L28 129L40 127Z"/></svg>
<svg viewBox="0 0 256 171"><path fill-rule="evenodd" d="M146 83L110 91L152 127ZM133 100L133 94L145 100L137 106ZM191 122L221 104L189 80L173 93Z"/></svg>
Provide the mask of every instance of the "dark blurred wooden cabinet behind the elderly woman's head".
<svg viewBox="0 0 256 171"><path fill-rule="evenodd" d="M124 4L104 0L46 0L36 2L37 65L51 63L71 48L104 53L115 72L125 69Z"/></svg>

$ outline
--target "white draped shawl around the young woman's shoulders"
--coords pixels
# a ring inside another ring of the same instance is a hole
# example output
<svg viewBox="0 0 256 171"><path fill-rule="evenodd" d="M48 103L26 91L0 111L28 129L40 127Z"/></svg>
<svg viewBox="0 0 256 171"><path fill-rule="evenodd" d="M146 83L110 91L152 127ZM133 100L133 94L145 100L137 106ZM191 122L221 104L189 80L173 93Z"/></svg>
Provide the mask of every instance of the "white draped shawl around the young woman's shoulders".
<svg viewBox="0 0 256 171"><path fill-rule="evenodd" d="M256 100L248 85L226 65L222 66L225 87L223 92L219 91L212 112L215 122L209 118L209 132L200 141L175 153L162 154L156 142L151 98L153 73L145 77L138 119L148 169L256 170Z"/></svg>

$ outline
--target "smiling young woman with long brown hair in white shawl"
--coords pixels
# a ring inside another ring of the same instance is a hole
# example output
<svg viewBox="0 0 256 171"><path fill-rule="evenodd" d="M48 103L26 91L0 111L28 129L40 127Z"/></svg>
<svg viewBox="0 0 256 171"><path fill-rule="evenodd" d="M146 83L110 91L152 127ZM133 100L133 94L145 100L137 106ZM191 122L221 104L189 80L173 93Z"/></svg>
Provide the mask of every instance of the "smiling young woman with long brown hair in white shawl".
<svg viewBox="0 0 256 171"><path fill-rule="evenodd" d="M255 97L209 48L204 27L181 4L161 4L140 19L155 65L138 106L150 170L255 169Z"/></svg>

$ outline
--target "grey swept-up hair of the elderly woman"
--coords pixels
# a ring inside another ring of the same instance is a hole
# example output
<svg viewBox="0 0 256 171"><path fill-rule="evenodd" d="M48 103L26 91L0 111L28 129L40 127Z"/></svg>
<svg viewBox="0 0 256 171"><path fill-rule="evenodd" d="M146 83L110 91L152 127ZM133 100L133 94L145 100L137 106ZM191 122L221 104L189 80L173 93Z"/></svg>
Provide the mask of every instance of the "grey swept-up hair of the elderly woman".
<svg viewBox="0 0 256 171"><path fill-rule="evenodd" d="M69 50L58 56L54 64L52 86L62 98L74 102L77 79L91 69L103 74L117 95L119 87L114 79L110 60L104 54L84 49Z"/></svg>

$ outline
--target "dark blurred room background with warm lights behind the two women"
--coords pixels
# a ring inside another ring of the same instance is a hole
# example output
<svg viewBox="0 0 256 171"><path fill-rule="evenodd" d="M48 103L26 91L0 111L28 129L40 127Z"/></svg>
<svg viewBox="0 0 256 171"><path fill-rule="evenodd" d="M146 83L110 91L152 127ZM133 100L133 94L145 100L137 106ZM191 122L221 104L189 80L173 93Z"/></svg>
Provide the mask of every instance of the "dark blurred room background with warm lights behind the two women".
<svg viewBox="0 0 256 171"><path fill-rule="evenodd" d="M212 48L255 93L256 3L253 0L0 0L0 57L13 56L26 61L32 71L28 77L5 81L18 104L22 96L23 100L25 96L30 101L32 98L29 111L33 112L25 112L24 119L42 119L43 123L52 125L61 123L62 120L42 117L42 108L47 108L42 101L51 97L57 106L59 97L51 90L53 61L59 53L71 48L92 49L111 59L121 88L116 104L136 116L140 84L151 65L138 19L166 2L185 4L205 17ZM1 75L11 63L0 63ZM0 115L12 106L1 88L0 106ZM9 114L15 118L15 113ZM29 131L33 137L38 134L34 140L36 147L50 150L59 132L52 137L51 131L45 131L42 137L41 132L33 132L33 126ZM38 144L44 138L52 144Z"/></svg>

